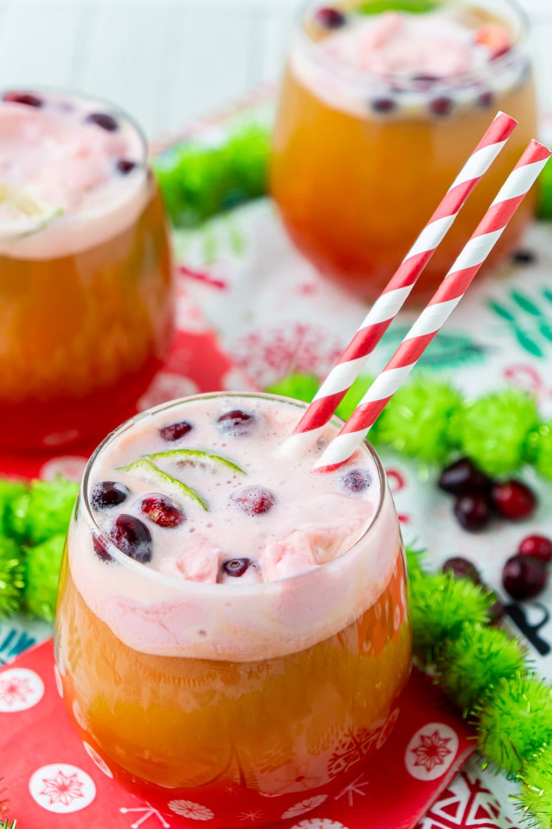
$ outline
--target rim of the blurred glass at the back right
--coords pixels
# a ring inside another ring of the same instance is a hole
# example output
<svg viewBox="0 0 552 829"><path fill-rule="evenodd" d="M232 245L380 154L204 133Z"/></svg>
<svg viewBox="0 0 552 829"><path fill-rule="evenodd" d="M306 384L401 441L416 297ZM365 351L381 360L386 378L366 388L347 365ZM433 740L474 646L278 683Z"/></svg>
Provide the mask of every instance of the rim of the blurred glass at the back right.
<svg viewBox="0 0 552 829"><path fill-rule="evenodd" d="M358 0L358 2L360 2L360 0ZM458 0L456 0L456 2L454 2L454 0L438 0L438 2L442 6L457 5L468 7L470 5L468 0L459 0L459 2ZM482 7L484 7L488 0L474 0L471 5L478 7L478 2L480 2ZM511 65L512 61L517 59L518 55L516 53L518 50L523 49L526 46L530 32L529 16L526 10L521 6L521 2L518 2L518 0L501 0L501 2L504 3L505 6L510 7L515 13L519 27L517 32L515 32L515 49L507 51L504 55L498 56L492 61L492 67L497 74L500 74L501 70L506 69L509 65ZM319 65L322 65L325 69L334 72L336 75L340 75L343 81L347 81L348 83L356 82L358 85L365 85L367 82L372 82L374 80L379 83L388 82L390 84L399 81L401 89L420 92L426 90L432 91L439 89L439 87L449 87L451 85L465 85L468 80L476 82L483 74L482 70L479 69L458 72L457 74L449 75L448 77L436 78L428 89L425 86L420 86L420 80L416 81L414 78L409 78L408 76L401 75L401 73L398 72L379 74L372 71L357 69L353 65L347 65L343 63L343 61L339 60L338 57L329 55L327 52L322 51L319 48L318 42L314 41L306 31L305 23L307 22L311 9L319 6L319 0L304 0L295 18L295 41L299 43L300 47L304 49L305 52L309 53L314 61L318 62ZM392 9L390 9L390 11L392 11Z"/></svg>

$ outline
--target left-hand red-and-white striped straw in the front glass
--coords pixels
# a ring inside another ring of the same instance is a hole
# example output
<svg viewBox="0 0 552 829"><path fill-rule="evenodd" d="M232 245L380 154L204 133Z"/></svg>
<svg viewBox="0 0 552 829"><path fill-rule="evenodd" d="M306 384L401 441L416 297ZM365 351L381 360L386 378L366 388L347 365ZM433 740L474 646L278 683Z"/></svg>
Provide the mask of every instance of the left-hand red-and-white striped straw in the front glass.
<svg viewBox="0 0 552 829"><path fill-rule="evenodd" d="M401 310L415 282L430 261L434 250L444 239L460 208L487 172L517 121L503 112L497 113L478 146L464 164L446 192L443 201L421 231L399 269L373 304L358 331L339 357L324 383L314 395L310 406L295 426L293 434L319 429L328 423L343 397L356 380L367 357L382 339L387 328Z"/></svg>

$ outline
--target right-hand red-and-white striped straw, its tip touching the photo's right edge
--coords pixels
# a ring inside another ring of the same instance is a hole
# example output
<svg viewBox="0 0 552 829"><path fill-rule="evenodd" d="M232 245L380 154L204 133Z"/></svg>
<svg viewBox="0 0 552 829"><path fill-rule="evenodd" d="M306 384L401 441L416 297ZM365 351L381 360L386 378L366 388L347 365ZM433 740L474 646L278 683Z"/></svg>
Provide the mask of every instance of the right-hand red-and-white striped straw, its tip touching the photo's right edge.
<svg viewBox="0 0 552 829"><path fill-rule="evenodd" d="M387 401L414 368L435 334L463 298L466 289L502 235L551 151L530 141L516 167L498 191L473 235L415 321L381 374L377 376L341 431L325 448L314 468L336 468L348 460L372 427Z"/></svg>

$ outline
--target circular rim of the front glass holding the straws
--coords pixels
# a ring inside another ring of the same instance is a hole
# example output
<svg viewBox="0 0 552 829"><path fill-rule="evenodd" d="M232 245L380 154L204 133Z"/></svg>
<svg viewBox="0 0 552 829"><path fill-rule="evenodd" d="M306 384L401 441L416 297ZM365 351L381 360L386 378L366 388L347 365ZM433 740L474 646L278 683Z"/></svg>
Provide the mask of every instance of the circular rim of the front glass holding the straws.
<svg viewBox="0 0 552 829"><path fill-rule="evenodd" d="M355 550L358 547L358 545L366 539L372 528L376 526L377 519L382 515L383 504L386 500L386 473L376 449L366 439L364 439L361 442L361 444L359 444L359 446L363 447L365 451L367 451L367 453L372 457L372 460L376 466L378 483L380 487L376 511L374 511L371 520L367 524L366 528L362 531L362 535L358 537L358 539L353 543L353 545L351 545L348 548L348 550L343 552L341 555L338 555L335 559L329 560L324 564L317 565L316 568L314 568L313 570L306 570L302 573L290 575L287 576L286 579L276 579L274 581L263 582L250 582L247 584L196 582L192 579L178 579L175 576L161 573L159 570L154 570L153 568L145 564L141 564L140 562L133 560L132 558L130 558L130 556L125 555L122 552L122 550L119 550L118 547L113 544L113 541L111 541L111 539L102 530L102 528L98 526L97 521L95 521L94 511L91 509L89 503L89 478L94 468L94 463L96 463L100 454L108 445L113 444L113 441L117 440L122 434L127 432L129 429L132 429L137 423L140 423L142 420L150 419L151 417L155 416L161 411L170 410L190 401L210 400L214 397L250 397L261 398L264 400L279 400L281 402L285 402L286 404L295 405L298 409L303 410L305 410L305 408L308 405L307 403L301 400L295 400L294 398L285 397L283 395L273 395L271 393L262 391L209 391L198 395L189 395L186 397L177 398L175 400L169 400L166 403L161 403L160 405L153 406L151 409L139 412L138 414L135 414L132 418L125 420L124 423L120 424L116 429L113 429L113 431L110 432L100 444L98 444L97 448L94 449L94 453L92 453L88 462L86 463L86 467L84 468L83 477L80 483L78 507L75 507L75 513L78 511L79 517L85 516L86 522L89 526L89 530L91 531L93 536L97 536L101 539L108 554L111 555L112 558L118 564L124 567L130 567L137 574L142 574L146 579L152 579L157 584L163 584L172 589L182 591L193 589L194 593L199 592L201 594L209 594L210 596L219 594L221 597L225 599L231 596L238 595L238 593L241 595L245 595L251 593L258 594L259 592L269 592L273 589L278 589L279 584L290 584L290 582L292 581L297 583L298 581L300 581L300 579L305 579L305 581L308 581L309 579L312 579L314 577L314 574L318 573L319 571L324 570L324 572L327 572L328 570L331 570L333 566L335 566L336 562L343 561L343 559L345 559L349 555L352 555L353 550ZM334 415L334 417L332 417L332 419L330 419L329 422L334 423L337 426L343 424L343 420L338 418L336 415ZM72 518L72 521L74 521L74 517Z"/></svg>

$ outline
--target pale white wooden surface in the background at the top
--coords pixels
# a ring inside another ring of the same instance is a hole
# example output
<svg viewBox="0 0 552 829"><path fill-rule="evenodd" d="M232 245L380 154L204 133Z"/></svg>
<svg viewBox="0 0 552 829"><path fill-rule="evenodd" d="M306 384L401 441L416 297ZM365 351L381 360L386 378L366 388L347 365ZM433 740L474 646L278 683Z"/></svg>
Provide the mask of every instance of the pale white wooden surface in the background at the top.
<svg viewBox="0 0 552 829"><path fill-rule="evenodd" d="M0 0L0 86L111 99L151 137L277 81L302 0ZM523 0L552 110L552 0Z"/></svg>

